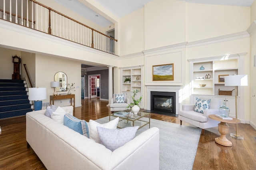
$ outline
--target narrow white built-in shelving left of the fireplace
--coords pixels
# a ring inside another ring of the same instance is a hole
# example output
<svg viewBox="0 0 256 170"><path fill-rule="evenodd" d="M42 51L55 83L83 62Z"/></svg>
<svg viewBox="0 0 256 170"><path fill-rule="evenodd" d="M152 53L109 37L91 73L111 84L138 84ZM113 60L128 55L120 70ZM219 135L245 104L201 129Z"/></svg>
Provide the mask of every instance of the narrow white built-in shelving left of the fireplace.
<svg viewBox="0 0 256 170"><path fill-rule="evenodd" d="M132 102L133 91L138 89L140 90L135 99L139 99L143 96L143 65L135 66L135 67L122 67L120 68L121 75L121 91L125 93L128 97L130 97L130 101ZM126 78L131 78L130 82L124 82ZM143 97L140 103L140 108L143 109Z"/></svg>

